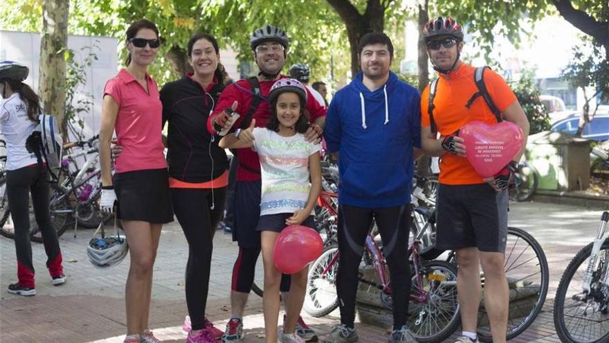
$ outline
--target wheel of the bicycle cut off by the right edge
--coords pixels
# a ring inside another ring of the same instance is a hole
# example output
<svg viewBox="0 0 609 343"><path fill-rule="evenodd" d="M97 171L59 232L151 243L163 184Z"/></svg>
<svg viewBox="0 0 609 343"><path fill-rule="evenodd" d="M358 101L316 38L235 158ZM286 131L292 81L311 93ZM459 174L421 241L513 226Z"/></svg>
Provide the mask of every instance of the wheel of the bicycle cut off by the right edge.
<svg viewBox="0 0 609 343"><path fill-rule="evenodd" d="M609 286L600 281L606 277L607 265L598 265L592 276L592 291L582 292L583 276L588 267L592 243L586 245L573 258L558 283L554 301L554 326L561 342L609 342ZM599 251L609 261L609 240Z"/></svg>

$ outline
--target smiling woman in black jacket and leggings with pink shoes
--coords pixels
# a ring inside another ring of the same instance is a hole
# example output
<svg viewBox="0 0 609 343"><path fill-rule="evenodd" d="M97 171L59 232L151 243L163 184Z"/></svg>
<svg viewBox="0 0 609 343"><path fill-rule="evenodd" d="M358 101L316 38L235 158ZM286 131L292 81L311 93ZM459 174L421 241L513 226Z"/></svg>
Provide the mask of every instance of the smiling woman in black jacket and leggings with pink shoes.
<svg viewBox="0 0 609 343"><path fill-rule="evenodd" d="M174 213L188 240L186 304L188 342L215 342L222 331L205 318L212 259L212 238L224 213L228 159L207 118L227 79L215 37L195 34L188 42L194 73L161 89L167 126L167 164Z"/></svg>

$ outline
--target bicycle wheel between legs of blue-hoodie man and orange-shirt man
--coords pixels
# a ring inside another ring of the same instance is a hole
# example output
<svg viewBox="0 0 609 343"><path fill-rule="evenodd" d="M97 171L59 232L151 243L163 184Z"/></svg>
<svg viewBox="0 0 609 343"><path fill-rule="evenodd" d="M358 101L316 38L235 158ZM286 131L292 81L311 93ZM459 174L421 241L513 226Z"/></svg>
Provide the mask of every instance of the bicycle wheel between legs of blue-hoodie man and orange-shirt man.
<svg viewBox="0 0 609 343"><path fill-rule="evenodd" d="M408 325L417 342L442 342L450 337L460 323L457 299L457 268L444 261L430 261L421 265L422 284L412 278L408 306Z"/></svg>

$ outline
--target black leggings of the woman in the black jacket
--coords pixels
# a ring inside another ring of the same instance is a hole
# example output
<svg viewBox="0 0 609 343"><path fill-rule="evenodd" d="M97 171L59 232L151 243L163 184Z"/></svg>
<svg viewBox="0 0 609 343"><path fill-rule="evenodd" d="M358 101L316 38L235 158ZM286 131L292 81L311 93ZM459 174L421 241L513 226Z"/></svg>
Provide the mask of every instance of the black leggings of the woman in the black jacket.
<svg viewBox="0 0 609 343"><path fill-rule="evenodd" d="M212 190L172 188L174 213L188 240L186 263L186 304L192 330L205 328L205 308L209 290L213 236L224 213L226 188Z"/></svg>

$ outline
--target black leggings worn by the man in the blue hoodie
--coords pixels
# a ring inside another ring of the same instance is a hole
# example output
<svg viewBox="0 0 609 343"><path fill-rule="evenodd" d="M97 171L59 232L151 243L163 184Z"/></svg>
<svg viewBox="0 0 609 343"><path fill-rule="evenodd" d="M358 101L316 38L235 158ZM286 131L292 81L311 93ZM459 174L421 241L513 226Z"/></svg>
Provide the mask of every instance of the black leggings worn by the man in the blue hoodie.
<svg viewBox="0 0 609 343"><path fill-rule="evenodd" d="M336 290L340 306L340 322L353 327L355 299L358 286L358 267L365 239L372 220L379 227L383 253L389 264L393 296L393 326L401 328L408 315L410 267L408 266L408 205L380 209L340 204L338 207L338 276Z"/></svg>

